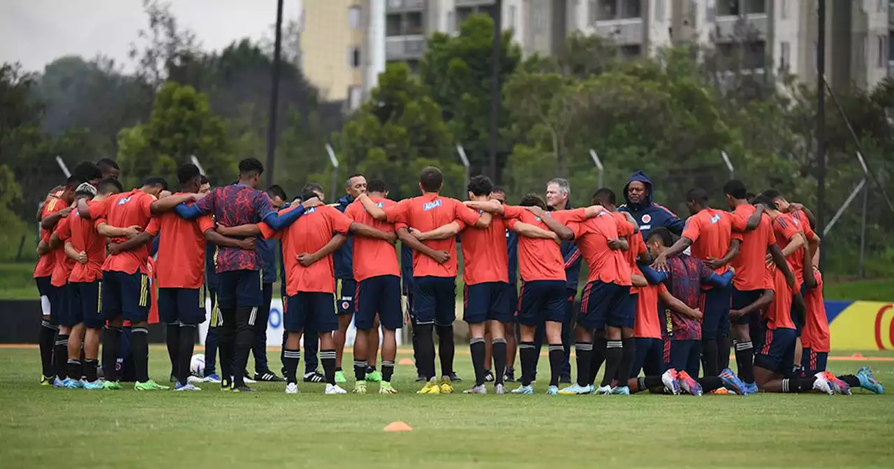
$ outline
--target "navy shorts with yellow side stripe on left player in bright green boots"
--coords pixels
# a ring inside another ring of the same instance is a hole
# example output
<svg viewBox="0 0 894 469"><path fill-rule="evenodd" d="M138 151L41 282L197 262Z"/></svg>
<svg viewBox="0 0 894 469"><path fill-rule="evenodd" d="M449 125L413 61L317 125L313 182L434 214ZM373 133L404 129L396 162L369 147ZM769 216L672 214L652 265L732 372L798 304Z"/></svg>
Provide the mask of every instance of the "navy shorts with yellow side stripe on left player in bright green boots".
<svg viewBox="0 0 894 469"><path fill-rule="evenodd" d="M103 318L113 320L121 316L130 322L149 319L152 305L152 281L142 272L103 272Z"/></svg>

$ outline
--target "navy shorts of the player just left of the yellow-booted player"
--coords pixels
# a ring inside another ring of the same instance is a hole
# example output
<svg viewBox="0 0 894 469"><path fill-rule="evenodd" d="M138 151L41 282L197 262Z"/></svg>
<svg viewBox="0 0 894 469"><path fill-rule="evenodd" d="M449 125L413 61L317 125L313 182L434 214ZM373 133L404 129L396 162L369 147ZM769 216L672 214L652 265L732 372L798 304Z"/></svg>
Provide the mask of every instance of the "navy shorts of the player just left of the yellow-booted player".
<svg viewBox="0 0 894 469"><path fill-rule="evenodd" d="M373 329L375 314L382 327L397 330L403 327L401 311L401 278L379 275L360 281L354 298L354 326L360 331Z"/></svg>

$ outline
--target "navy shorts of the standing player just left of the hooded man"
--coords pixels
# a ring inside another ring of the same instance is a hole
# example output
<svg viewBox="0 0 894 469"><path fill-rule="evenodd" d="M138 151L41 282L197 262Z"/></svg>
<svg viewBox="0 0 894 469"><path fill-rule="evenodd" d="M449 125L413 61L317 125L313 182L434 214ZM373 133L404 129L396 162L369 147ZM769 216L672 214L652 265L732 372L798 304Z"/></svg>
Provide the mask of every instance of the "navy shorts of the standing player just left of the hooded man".
<svg viewBox="0 0 894 469"><path fill-rule="evenodd" d="M630 287L617 283L591 281L584 287L580 297L578 324L587 329L609 327L633 327L637 314L636 298L632 308L625 307L630 301ZM629 311L628 311L629 310ZM630 313L632 311L632 313ZM628 314L633 314L628 319Z"/></svg>

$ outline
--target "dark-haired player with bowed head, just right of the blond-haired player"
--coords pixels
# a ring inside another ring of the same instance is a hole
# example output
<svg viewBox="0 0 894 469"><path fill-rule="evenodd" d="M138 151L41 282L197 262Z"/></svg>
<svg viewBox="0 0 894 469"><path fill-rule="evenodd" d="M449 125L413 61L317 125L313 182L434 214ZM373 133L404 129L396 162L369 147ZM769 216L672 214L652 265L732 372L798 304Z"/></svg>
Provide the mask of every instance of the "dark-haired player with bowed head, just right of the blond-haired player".
<svg viewBox="0 0 894 469"><path fill-rule="evenodd" d="M97 197L93 197L87 204L97 207L106 198L118 194L122 190L118 180L106 178L97 185ZM71 238L65 240L64 249L66 255L77 261L69 277L69 289L72 300L70 305L72 316L78 321L72 329L83 331L84 363L82 367L83 374L86 376L83 387L84 389L103 389L103 382L99 381L97 377L97 367L100 331L105 325L100 309L99 295L102 267L105 262L105 238L97 233L91 220L80 216L78 210L74 210L69 215L69 227ZM72 356L80 358L80 333L70 336L68 356L70 361Z"/></svg>

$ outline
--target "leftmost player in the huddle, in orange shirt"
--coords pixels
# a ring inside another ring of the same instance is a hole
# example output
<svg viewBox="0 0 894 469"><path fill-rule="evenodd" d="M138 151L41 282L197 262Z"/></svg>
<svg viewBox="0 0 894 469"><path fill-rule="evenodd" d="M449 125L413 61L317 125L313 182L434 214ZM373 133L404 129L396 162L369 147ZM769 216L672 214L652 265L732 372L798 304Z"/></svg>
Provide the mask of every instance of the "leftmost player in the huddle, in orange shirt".
<svg viewBox="0 0 894 469"><path fill-rule="evenodd" d="M74 189L78 187L77 179L72 176L65 185L47 197L46 204L40 210L40 239L49 242L55 224L72 211L70 205L74 200ZM53 364L53 348L55 346L58 322L54 319L53 302L56 297L56 289L51 284L53 268L55 266L55 253L38 251L38 263L34 265L34 282L38 286L40 295L40 308L42 318L38 344L40 348L41 376L40 384L50 386L54 383L55 369Z"/></svg>

